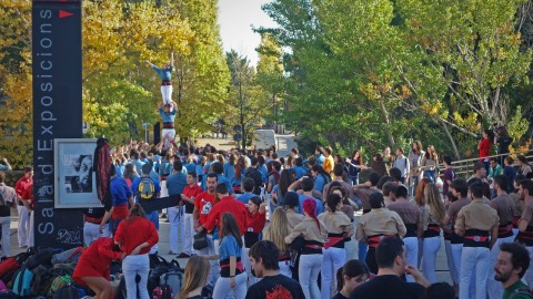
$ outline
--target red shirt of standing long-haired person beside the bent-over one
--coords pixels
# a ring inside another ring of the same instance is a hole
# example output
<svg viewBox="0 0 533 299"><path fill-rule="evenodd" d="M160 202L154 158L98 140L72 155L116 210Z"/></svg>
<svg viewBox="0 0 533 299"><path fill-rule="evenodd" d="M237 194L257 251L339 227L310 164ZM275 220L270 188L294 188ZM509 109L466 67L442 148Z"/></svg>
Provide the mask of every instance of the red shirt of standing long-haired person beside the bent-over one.
<svg viewBox="0 0 533 299"><path fill-rule="evenodd" d="M150 248L158 244L159 234L152 221L135 216L120 223L114 240L122 244L121 249L127 255L131 254L137 246L148 241L150 246L142 248L139 252L139 255L143 255L148 254Z"/></svg>

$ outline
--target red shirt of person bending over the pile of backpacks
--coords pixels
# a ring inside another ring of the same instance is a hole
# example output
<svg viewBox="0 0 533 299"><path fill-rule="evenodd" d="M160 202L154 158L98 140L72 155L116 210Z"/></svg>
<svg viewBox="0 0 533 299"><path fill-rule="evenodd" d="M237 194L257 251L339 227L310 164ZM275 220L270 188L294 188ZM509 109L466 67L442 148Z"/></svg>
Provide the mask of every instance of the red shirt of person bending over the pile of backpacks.
<svg viewBox="0 0 533 299"><path fill-rule="evenodd" d="M113 259L120 259L122 252L113 251L112 238L101 237L91 243L76 265L72 277L86 286L80 277L103 277L109 280L109 266Z"/></svg>

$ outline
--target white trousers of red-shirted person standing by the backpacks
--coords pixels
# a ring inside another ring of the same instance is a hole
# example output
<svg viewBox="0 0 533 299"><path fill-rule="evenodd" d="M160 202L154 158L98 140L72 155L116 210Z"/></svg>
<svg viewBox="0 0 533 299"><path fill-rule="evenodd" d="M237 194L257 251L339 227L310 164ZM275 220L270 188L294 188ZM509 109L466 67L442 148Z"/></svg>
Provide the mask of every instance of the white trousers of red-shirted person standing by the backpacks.
<svg viewBox="0 0 533 299"><path fill-rule="evenodd" d="M140 299L150 299L148 295L148 274L150 271L150 260L148 254L138 256L127 256L122 260L122 271L124 272L125 291L128 298L137 297L137 282L135 277L139 275L141 280L139 281L139 295Z"/></svg>

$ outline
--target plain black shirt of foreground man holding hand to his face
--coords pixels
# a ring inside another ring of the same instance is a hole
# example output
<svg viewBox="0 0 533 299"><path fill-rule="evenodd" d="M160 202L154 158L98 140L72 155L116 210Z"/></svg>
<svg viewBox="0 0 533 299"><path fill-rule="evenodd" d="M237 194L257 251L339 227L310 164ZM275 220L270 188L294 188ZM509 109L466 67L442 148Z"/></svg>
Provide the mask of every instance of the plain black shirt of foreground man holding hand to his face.
<svg viewBox="0 0 533 299"><path fill-rule="evenodd" d="M420 299L425 288L416 282L405 282L395 275L376 276L359 286L350 295L350 299Z"/></svg>

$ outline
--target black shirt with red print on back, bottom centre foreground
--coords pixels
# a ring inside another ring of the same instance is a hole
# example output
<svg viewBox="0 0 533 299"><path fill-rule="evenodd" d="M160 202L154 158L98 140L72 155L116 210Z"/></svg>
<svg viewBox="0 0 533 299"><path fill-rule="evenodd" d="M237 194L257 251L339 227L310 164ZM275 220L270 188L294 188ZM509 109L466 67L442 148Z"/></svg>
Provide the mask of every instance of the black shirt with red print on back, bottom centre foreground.
<svg viewBox="0 0 533 299"><path fill-rule="evenodd" d="M265 276L252 285L247 292L247 299L305 299L302 287L296 280L284 275Z"/></svg>

